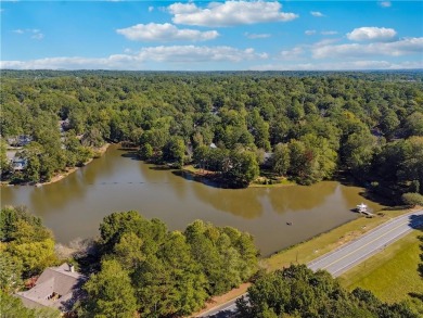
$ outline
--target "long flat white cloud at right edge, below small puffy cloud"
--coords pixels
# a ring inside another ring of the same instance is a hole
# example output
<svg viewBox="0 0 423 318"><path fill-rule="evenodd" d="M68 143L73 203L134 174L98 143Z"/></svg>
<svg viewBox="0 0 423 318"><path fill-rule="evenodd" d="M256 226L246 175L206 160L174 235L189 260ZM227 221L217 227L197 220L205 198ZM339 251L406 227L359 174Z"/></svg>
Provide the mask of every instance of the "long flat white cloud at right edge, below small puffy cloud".
<svg viewBox="0 0 423 318"><path fill-rule="evenodd" d="M368 44L319 44L312 48L311 51L315 59L361 59L367 55L400 56L407 54L421 54L423 51L423 37L407 38L395 42L375 42Z"/></svg>

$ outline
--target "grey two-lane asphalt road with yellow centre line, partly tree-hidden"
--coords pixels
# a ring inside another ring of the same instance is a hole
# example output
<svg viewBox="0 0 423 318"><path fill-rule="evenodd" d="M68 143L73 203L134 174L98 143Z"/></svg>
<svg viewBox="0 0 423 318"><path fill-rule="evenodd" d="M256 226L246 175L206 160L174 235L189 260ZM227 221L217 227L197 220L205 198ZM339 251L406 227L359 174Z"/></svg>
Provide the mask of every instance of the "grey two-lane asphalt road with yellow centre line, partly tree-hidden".
<svg viewBox="0 0 423 318"><path fill-rule="evenodd" d="M392 219L359 239L307 264L312 270L325 269L337 277L370 256L383 251L415 228L423 227L423 209ZM246 296L246 294L244 294ZM229 318L236 314L236 300L203 313L200 317Z"/></svg>

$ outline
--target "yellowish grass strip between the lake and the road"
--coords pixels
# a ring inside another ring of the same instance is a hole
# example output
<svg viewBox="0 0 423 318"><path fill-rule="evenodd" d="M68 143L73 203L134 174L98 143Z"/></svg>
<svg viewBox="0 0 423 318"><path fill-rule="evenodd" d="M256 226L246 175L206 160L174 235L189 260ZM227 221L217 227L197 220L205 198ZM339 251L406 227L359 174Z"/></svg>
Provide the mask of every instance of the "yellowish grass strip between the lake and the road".
<svg viewBox="0 0 423 318"><path fill-rule="evenodd" d="M410 211L384 211L384 216L376 216L373 218L359 217L352 221L332 229L329 232L315 237L309 241L291 246L268 258L261 259L260 265L265 269L272 271L289 267L291 264L307 264L312 259L357 239L371 229L386 222L390 218L408 212Z"/></svg>

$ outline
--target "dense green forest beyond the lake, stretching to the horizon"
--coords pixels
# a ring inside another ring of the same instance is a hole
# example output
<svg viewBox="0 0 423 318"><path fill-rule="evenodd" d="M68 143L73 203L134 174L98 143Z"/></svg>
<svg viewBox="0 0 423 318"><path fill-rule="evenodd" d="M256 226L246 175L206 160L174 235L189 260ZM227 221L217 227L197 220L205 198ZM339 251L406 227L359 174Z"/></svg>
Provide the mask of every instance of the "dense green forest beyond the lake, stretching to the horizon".
<svg viewBox="0 0 423 318"><path fill-rule="evenodd" d="M264 171L300 185L343 175L421 203L422 79L419 71L3 71L2 178L47 181L94 148L125 142L142 160L193 164L229 187L247 187ZM31 142L17 154L25 168L14 170L7 143L18 136Z"/></svg>

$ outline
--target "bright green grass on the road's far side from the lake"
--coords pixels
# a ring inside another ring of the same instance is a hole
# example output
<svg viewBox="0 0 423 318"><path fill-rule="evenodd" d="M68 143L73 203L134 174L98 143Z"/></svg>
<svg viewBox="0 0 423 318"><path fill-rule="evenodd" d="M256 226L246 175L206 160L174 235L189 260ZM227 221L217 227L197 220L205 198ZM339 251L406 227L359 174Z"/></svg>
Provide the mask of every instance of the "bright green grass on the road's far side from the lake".
<svg viewBox="0 0 423 318"><path fill-rule="evenodd" d="M418 297L423 296L423 279L418 271L421 253L418 237L422 234L422 231L413 230L342 275L341 284L348 290L358 287L370 290L387 303L411 301L423 314L423 301Z"/></svg>

